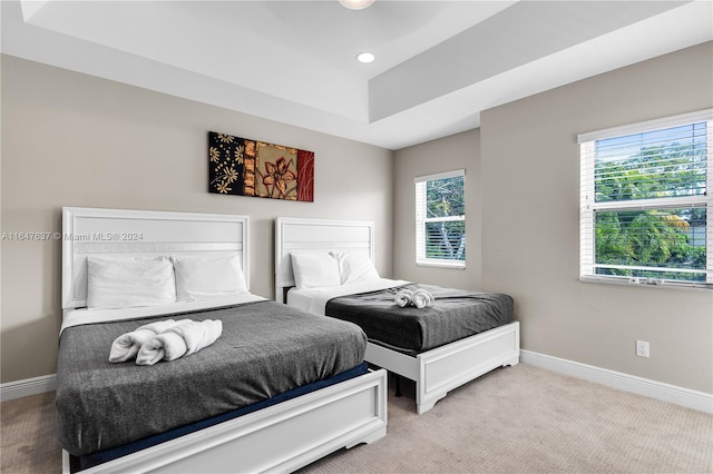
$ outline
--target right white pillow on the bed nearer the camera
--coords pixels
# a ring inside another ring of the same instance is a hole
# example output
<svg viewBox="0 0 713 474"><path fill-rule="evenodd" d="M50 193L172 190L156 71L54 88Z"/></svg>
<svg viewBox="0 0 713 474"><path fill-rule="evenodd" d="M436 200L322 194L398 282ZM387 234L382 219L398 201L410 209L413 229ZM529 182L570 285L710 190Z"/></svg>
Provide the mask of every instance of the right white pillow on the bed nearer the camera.
<svg viewBox="0 0 713 474"><path fill-rule="evenodd" d="M180 255L172 257L179 302L199 302L247 293L238 254Z"/></svg>

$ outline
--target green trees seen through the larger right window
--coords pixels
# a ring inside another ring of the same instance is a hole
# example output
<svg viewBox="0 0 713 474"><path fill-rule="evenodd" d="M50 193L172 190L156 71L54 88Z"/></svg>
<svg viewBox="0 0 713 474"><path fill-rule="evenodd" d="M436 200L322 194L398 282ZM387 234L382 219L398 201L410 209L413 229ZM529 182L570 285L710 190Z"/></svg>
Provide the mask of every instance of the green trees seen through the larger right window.
<svg viewBox="0 0 713 474"><path fill-rule="evenodd" d="M597 142L597 146L599 142ZM705 142L643 147L627 159L598 159L597 203L699 196L706 184ZM599 210L595 263L705 269L705 207ZM597 268L600 275L705 282L699 273Z"/></svg>

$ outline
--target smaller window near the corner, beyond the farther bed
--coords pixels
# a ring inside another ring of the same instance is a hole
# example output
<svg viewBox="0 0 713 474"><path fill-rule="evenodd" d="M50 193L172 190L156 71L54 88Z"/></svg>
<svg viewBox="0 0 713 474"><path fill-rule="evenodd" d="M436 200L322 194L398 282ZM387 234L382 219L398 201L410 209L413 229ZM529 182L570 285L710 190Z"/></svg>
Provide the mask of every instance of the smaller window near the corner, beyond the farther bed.
<svg viewBox="0 0 713 474"><path fill-rule="evenodd" d="M416 263L466 266L466 170L416 178Z"/></svg>

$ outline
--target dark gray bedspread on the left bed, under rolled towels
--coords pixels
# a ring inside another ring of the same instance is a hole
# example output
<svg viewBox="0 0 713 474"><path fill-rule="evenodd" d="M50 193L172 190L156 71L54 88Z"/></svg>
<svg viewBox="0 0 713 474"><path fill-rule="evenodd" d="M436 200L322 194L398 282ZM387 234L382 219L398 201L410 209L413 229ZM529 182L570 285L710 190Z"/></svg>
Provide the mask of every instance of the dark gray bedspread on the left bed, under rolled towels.
<svg viewBox="0 0 713 474"><path fill-rule="evenodd" d="M57 368L59 441L82 455L194 423L361 364L367 336L353 324L275 302L180 315L221 319L211 346L173 362L110 364L111 342L164 315L64 330Z"/></svg>

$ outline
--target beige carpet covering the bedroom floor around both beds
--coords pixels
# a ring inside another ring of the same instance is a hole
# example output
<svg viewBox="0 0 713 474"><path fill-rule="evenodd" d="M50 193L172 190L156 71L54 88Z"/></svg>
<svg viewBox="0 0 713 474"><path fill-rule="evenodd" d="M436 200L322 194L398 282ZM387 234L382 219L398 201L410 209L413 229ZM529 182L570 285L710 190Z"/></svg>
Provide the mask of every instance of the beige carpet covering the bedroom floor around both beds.
<svg viewBox="0 0 713 474"><path fill-rule="evenodd" d="M702 412L525 364L420 416L403 388L390 389L384 438L301 473L713 473L713 416ZM61 472L52 396L2 403L3 474Z"/></svg>

